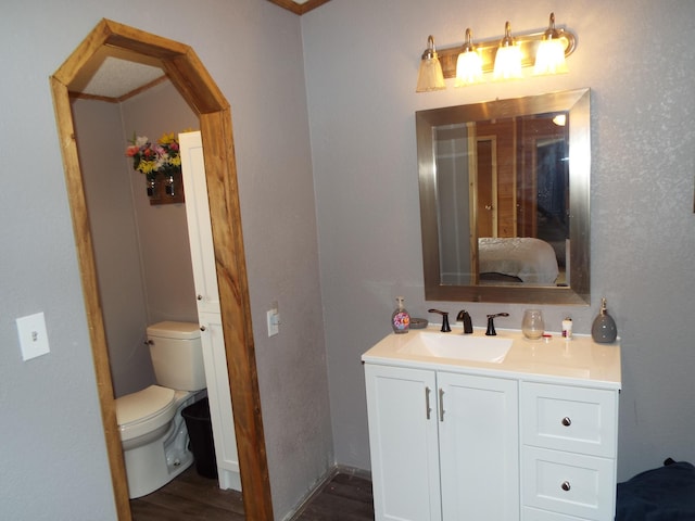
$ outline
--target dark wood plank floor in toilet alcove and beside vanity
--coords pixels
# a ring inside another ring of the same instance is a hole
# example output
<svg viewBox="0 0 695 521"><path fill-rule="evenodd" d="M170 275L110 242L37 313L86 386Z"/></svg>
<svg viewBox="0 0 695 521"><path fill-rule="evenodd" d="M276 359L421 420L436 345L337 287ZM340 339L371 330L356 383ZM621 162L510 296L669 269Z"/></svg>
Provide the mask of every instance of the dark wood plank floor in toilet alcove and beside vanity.
<svg viewBox="0 0 695 521"><path fill-rule="evenodd" d="M201 478L195 466L144 497L132 499L134 521L243 521L241 494L220 491L217 481ZM374 521L371 483L339 472L318 491L294 521Z"/></svg>

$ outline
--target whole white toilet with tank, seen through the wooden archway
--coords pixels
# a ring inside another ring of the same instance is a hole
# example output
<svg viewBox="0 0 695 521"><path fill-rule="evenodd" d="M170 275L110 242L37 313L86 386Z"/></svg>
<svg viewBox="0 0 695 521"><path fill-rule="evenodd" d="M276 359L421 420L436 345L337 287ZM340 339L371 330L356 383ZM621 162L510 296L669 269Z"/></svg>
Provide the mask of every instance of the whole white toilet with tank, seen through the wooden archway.
<svg viewBox="0 0 695 521"><path fill-rule="evenodd" d="M199 328L173 321L150 326L148 344L157 385L116 398L131 499L164 486L193 462L181 410L205 389Z"/></svg>

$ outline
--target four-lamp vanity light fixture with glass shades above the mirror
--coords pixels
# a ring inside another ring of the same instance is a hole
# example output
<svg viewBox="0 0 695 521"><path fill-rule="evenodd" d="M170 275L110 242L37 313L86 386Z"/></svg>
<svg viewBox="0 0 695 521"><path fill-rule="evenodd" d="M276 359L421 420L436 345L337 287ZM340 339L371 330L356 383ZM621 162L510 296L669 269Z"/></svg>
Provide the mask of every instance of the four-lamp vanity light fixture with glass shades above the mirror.
<svg viewBox="0 0 695 521"><path fill-rule="evenodd" d="M522 77L523 67L533 67L534 75L566 73L567 63L564 59L569 56L576 47L577 37L571 30L555 27L554 13L551 13L547 29L542 31L526 31L513 36L510 24L507 22L502 39L472 42L472 33L466 29L463 47L435 50L434 39L430 36L428 49L422 54L417 92L446 88L443 79L440 80L435 74L440 67L443 78L456 78L457 87L482 81L482 75L471 72L477 68L471 69L468 64L475 60L476 54L480 58L482 73L493 73L491 79L495 80ZM513 64L509 64L509 54L514 58ZM426 80L427 77L430 79Z"/></svg>

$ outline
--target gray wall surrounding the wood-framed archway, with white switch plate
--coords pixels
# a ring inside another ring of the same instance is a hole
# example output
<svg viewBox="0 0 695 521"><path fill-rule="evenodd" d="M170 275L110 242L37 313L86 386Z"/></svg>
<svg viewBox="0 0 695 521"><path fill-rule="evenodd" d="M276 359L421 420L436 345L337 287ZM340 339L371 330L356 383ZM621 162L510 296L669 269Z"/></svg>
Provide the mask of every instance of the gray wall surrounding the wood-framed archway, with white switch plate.
<svg viewBox="0 0 695 521"><path fill-rule="evenodd" d="M231 104L261 405L281 519L334 458L301 18L258 0L3 7L1 63L11 73L0 82L0 414L8 425L0 517L115 519L49 88L49 76L102 17L190 45ZM282 325L268 339L273 301ZM14 319L41 310L51 352L24 363Z"/></svg>

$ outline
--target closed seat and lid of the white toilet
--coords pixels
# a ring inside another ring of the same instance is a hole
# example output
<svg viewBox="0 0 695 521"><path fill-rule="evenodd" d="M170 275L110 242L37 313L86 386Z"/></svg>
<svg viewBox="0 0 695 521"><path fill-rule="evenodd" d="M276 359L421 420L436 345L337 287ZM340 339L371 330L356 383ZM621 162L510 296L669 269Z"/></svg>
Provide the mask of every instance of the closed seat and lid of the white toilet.
<svg viewBox="0 0 695 521"><path fill-rule="evenodd" d="M127 442L167 424L176 412L175 391L150 385L116 398L116 421L121 440Z"/></svg>

